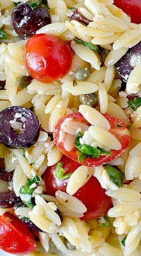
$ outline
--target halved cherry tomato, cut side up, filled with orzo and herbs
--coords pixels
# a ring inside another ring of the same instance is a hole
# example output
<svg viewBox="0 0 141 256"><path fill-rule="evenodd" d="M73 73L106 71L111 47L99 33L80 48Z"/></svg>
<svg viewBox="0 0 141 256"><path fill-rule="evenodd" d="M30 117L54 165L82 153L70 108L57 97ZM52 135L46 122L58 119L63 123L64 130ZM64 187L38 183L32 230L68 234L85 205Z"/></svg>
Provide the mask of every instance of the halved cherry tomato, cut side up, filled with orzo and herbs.
<svg viewBox="0 0 141 256"><path fill-rule="evenodd" d="M109 132L111 132L112 134L115 135L115 137L118 138L122 147L120 150L112 149L110 156L102 155L99 158L87 158L84 161L79 163L81 165L94 167L94 166L106 164L107 162L109 162L109 161L117 158L119 155L121 155L121 153L124 152L125 149L127 149L128 145L130 143L130 135L129 135L128 129L124 125L124 123L122 123L117 118L114 118L112 116L109 116L106 114L103 114L103 116L105 116L105 118L108 119L109 124L111 125L111 129L109 130ZM71 118L74 121L86 124L88 126L90 126L90 124L85 120L85 118L81 115L81 113L73 113L68 116L65 116L65 118L60 119L59 122L57 123L56 127L54 128L53 137L54 137L54 141L55 141L57 147L59 147L59 149L62 151L62 153L64 155L73 159L73 161L78 162L78 155L80 153L79 150L76 149L74 146L73 149L68 152L68 151L66 151L65 147L63 146L63 141L59 140L60 126L68 118Z"/></svg>

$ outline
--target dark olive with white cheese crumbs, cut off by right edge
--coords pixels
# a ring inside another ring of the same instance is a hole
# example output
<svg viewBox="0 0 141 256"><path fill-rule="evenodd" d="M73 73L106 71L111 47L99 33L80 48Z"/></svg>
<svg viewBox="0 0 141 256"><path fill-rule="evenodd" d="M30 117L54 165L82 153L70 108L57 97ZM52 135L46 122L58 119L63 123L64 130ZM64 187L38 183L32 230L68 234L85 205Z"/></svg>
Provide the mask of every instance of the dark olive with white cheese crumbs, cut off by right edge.
<svg viewBox="0 0 141 256"><path fill-rule="evenodd" d="M128 52L115 64L118 74L127 82L131 71L141 62L141 42L131 47Z"/></svg>

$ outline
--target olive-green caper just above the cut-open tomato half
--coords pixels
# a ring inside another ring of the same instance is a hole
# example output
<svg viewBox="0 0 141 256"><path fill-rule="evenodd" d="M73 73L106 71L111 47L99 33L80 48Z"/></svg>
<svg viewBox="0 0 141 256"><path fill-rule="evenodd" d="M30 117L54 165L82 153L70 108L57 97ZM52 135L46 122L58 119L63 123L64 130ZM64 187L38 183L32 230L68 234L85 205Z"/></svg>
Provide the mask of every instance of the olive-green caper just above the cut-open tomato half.
<svg viewBox="0 0 141 256"><path fill-rule="evenodd" d="M87 105L89 107L97 107L99 105L97 94L80 95L79 99L82 104Z"/></svg>

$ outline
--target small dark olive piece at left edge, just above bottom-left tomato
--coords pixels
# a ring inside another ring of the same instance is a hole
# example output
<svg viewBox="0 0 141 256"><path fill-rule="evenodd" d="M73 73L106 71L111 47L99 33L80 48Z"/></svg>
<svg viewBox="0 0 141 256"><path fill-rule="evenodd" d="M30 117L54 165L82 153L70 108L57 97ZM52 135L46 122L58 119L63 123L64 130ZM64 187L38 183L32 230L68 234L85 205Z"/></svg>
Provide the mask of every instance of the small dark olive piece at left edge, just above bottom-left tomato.
<svg viewBox="0 0 141 256"><path fill-rule="evenodd" d="M9 193L0 193L0 206L4 208L11 208L14 204L19 201L19 197L16 196L14 191Z"/></svg>

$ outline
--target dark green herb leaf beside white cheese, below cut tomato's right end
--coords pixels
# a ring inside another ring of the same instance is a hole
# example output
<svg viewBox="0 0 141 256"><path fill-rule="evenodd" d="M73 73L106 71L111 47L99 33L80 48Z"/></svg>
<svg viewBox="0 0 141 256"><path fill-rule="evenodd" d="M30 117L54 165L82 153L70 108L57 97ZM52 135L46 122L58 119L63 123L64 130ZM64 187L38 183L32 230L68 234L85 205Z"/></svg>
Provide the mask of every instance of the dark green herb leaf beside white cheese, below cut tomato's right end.
<svg viewBox="0 0 141 256"><path fill-rule="evenodd" d="M117 168L114 168L109 164L106 164L106 168L112 182L114 182L115 185L120 188L124 179L124 174L122 173L122 171L119 171Z"/></svg>

